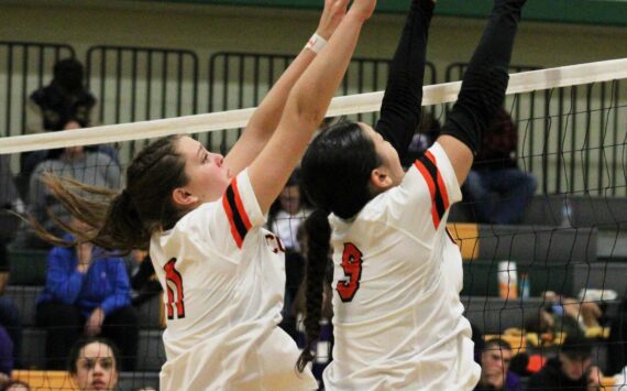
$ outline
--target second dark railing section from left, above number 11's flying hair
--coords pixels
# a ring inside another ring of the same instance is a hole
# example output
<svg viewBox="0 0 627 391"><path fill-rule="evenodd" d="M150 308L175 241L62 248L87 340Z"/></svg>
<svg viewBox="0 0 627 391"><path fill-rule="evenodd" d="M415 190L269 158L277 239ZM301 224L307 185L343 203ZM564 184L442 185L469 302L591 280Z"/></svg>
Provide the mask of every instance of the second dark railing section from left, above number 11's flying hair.
<svg viewBox="0 0 627 391"><path fill-rule="evenodd" d="M191 51L94 46L87 52L86 68L87 87L100 102L101 123L180 117L198 111L198 56ZM130 144L128 158L139 145L143 142Z"/></svg>

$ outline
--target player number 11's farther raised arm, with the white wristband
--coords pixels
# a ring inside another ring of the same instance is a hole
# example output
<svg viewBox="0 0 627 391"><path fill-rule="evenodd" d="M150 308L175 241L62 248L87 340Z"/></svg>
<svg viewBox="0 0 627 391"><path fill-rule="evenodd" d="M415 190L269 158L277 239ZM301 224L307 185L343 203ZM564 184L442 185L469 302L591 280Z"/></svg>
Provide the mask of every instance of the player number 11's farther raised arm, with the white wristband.
<svg viewBox="0 0 627 391"><path fill-rule="evenodd" d="M328 41L346 13L348 2L348 0L324 0L324 10L316 34ZM314 58L316 58L316 52L307 45L262 100L242 137L224 158L224 163L233 174L237 175L249 166L274 134L289 91Z"/></svg>

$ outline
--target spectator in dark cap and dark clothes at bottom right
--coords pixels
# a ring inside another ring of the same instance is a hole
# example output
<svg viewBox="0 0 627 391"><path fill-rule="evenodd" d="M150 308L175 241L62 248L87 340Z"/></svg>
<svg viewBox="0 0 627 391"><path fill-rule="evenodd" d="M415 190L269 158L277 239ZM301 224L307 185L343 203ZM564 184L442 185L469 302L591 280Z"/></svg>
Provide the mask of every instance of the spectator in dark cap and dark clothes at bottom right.
<svg viewBox="0 0 627 391"><path fill-rule="evenodd" d="M598 390L601 370L592 365L592 346L581 336L569 335L558 357L547 361L544 367L529 379L528 389L538 391Z"/></svg>

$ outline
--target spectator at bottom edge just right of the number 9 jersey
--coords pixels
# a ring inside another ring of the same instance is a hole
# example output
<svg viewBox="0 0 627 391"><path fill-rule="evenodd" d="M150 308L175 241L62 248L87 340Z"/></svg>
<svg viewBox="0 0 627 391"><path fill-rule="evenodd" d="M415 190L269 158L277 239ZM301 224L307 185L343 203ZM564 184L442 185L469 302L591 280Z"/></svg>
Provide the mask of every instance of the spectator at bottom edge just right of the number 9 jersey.
<svg viewBox="0 0 627 391"><path fill-rule="evenodd" d="M485 343L481 354L481 378L475 390L522 391L520 378L509 371L512 346L494 338Z"/></svg>

